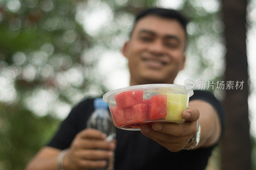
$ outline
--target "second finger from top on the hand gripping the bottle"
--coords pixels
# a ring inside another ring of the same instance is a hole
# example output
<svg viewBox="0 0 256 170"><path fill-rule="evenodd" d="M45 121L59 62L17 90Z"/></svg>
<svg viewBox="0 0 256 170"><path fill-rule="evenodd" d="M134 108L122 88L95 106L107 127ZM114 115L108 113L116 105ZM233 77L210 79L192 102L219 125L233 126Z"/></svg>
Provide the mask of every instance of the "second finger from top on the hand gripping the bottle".
<svg viewBox="0 0 256 170"><path fill-rule="evenodd" d="M83 141L80 142L80 147L83 149L106 149L114 151L116 144L105 140L83 139Z"/></svg>

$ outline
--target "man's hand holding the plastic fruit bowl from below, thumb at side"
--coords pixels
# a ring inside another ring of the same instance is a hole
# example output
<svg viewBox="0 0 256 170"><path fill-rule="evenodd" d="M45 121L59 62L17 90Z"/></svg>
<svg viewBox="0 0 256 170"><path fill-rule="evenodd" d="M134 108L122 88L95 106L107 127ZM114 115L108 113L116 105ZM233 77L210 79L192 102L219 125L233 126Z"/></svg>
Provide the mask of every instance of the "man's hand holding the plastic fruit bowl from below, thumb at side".
<svg viewBox="0 0 256 170"><path fill-rule="evenodd" d="M153 139L169 151L180 151L197 131L198 109L189 105L187 110L181 113L186 121L182 124L154 122L152 126L142 125L140 131L143 135Z"/></svg>

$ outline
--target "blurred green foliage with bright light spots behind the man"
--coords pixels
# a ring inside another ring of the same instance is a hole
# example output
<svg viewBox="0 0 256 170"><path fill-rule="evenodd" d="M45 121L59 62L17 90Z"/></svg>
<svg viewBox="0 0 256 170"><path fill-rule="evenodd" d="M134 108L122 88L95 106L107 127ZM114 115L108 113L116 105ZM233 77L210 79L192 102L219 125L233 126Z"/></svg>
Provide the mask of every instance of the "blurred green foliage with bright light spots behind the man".
<svg viewBox="0 0 256 170"><path fill-rule="evenodd" d="M186 68L176 84L224 80L219 0L0 0L0 170L23 169L83 98L129 85L120 48L134 14L146 7L181 10L190 19ZM255 17L247 20L248 29L255 26ZM212 92L224 100L224 90ZM207 169L220 169L220 160L217 147Z"/></svg>

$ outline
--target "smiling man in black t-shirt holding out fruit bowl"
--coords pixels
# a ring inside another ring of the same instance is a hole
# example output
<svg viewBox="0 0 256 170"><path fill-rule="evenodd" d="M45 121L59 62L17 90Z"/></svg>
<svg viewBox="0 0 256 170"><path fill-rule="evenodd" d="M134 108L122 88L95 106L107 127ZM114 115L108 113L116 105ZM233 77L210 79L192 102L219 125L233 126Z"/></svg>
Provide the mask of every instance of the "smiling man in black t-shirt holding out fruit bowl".
<svg viewBox="0 0 256 170"><path fill-rule="evenodd" d="M128 59L130 85L173 84L185 63L186 24L179 13L167 9L149 9L137 16L122 49ZM116 170L204 169L223 128L218 100L208 92L195 91L182 112L183 124L153 123L142 125L141 131L117 129L116 140L108 142L104 133L84 129L92 105L93 99L87 99L76 106L27 169L58 170L58 159L64 170L102 168L107 165L104 159L113 157ZM197 122L201 133L195 146Z"/></svg>

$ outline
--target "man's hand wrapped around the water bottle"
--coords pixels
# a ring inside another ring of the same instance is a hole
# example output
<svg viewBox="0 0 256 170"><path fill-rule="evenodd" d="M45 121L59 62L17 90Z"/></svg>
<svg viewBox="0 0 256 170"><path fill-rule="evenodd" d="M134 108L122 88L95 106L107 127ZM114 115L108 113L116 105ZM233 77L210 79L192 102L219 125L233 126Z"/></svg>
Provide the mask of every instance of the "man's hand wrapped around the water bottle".
<svg viewBox="0 0 256 170"><path fill-rule="evenodd" d="M84 129L72 141L63 159L65 170L104 168L114 158L115 139L106 140L106 134L97 129Z"/></svg>

